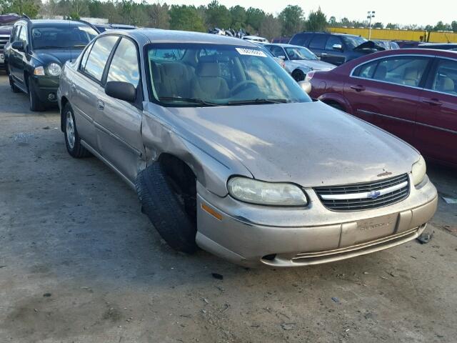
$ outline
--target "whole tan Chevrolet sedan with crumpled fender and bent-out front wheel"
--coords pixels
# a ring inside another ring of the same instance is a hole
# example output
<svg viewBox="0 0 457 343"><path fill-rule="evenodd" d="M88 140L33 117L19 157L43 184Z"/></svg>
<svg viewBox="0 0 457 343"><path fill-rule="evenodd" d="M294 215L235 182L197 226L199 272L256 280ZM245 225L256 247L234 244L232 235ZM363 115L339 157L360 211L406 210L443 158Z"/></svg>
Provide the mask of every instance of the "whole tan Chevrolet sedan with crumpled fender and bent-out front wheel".
<svg viewBox="0 0 457 343"><path fill-rule="evenodd" d="M139 195L171 247L248 266L304 266L423 232L437 194L401 139L312 101L254 44L109 31L67 62L66 149Z"/></svg>

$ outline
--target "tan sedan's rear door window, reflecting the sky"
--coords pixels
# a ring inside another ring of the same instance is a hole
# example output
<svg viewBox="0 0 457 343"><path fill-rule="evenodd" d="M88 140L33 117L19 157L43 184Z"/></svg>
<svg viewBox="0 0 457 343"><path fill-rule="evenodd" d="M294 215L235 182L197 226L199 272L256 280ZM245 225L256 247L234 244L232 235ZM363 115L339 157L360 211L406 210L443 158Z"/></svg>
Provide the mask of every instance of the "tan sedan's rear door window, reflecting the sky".
<svg viewBox="0 0 457 343"><path fill-rule="evenodd" d="M95 41L89 53L86 66L84 67L85 74L88 74L97 81L101 81L106 62L118 39L118 36L104 36Z"/></svg>

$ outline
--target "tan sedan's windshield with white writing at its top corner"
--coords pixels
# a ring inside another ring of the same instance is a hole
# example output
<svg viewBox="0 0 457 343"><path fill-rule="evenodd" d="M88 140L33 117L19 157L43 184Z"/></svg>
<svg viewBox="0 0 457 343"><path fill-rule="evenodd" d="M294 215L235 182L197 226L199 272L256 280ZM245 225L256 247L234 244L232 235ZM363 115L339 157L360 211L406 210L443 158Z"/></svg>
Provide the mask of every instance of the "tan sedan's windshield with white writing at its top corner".
<svg viewBox="0 0 457 343"><path fill-rule="evenodd" d="M146 56L151 97L164 106L311 101L296 81L258 47L151 44Z"/></svg>

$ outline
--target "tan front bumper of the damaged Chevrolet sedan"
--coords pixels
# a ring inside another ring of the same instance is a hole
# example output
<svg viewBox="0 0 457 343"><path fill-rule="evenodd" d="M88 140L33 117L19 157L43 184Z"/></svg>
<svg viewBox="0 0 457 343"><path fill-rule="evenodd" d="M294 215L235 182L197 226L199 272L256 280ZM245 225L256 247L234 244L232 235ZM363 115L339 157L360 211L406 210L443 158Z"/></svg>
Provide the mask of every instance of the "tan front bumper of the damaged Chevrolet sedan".
<svg viewBox="0 0 457 343"><path fill-rule="evenodd" d="M199 184L196 242L206 251L249 267L333 262L415 239L433 217L438 201L428 177L420 188L411 186L403 201L358 212L330 211L313 189L305 190L308 207L288 209L217 197ZM221 214L221 219L202 206Z"/></svg>

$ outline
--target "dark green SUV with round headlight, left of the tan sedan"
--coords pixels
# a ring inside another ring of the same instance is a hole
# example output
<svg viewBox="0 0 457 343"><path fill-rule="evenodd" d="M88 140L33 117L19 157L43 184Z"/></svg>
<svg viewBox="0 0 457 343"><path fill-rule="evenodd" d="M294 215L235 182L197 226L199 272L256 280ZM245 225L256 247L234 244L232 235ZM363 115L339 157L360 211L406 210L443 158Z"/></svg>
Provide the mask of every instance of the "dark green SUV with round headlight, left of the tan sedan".
<svg viewBox="0 0 457 343"><path fill-rule="evenodd" d="M97 35L92 26L81 21L16 21L5 46L11 90L29 94L32 111L56 104L62 66L76 59Z"/></svg>

